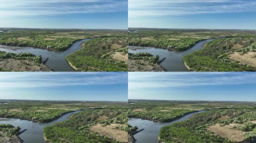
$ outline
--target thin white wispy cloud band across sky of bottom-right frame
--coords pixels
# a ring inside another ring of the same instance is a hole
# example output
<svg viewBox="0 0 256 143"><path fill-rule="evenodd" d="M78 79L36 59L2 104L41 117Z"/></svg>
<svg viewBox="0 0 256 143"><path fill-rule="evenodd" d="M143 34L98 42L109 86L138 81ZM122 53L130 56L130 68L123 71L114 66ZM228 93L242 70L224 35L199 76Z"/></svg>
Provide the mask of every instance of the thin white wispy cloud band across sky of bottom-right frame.
<svg viewBox="0 0 256 143"><path fill-rule="evenodd" d="M212 85L256 83L254 73L192 72L192 73L128 73L129 89L159 89Z"/></svg>

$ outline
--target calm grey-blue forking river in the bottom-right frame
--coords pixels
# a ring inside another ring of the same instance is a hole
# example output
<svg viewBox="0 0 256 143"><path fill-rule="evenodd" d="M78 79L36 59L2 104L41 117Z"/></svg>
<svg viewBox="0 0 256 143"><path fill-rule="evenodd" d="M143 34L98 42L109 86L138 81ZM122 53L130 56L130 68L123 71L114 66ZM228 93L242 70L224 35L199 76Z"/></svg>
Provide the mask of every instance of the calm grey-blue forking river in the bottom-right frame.
<svg viewBox="0 0 256 143"><path fill-rule="evenodd" d="M138 130L141 130L144 128L143 131L134 135L134 138L137 140L136 143L158 143L158 134L161 127L165 125L171 125L176 122L188 120L193 115L197 113L202 113L202 112L205 112L205 111L194 112L171 122L156 122L156 121L144 120L140 118L129 118L128 123L132 126L137 126Z"/></svg>

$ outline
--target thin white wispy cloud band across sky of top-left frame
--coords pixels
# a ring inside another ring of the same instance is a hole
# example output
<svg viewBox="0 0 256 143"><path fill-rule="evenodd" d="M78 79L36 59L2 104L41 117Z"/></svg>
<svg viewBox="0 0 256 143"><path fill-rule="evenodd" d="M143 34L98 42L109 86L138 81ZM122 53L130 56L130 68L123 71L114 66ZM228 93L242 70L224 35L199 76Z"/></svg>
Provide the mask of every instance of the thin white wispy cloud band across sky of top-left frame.
<svg viewBox="0 0 256 143"><path fill-rule="evenodd" d="M127 11L127 0L1 0L0 18Z"/></svg>

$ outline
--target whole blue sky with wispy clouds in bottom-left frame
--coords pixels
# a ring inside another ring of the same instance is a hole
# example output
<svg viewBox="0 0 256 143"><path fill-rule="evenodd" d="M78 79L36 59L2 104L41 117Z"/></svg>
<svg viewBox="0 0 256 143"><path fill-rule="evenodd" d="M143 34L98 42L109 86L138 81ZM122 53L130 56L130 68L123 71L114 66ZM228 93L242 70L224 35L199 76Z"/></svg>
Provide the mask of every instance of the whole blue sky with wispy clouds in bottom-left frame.
<svg viewBox="0 0 256 143"><path fill-rule="evenodd" d="M3 72L0 99L127 101L127 72Z"/></svg>

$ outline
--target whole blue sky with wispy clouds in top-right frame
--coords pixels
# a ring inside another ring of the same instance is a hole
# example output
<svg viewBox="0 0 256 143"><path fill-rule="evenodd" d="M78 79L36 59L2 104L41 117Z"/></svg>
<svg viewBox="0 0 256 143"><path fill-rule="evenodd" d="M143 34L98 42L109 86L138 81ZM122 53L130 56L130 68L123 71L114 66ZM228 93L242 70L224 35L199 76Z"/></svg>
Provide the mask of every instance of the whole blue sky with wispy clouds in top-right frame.
<svg viewBox="0 0 256 143"><path fill-rule="evenodd" d="M256 29L255 0L129 0L128 26Z"/></svg>

